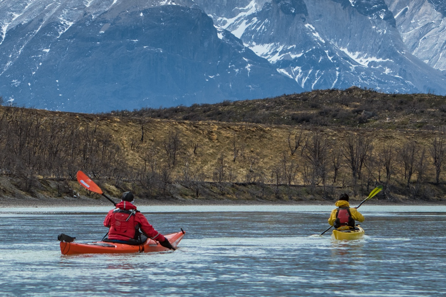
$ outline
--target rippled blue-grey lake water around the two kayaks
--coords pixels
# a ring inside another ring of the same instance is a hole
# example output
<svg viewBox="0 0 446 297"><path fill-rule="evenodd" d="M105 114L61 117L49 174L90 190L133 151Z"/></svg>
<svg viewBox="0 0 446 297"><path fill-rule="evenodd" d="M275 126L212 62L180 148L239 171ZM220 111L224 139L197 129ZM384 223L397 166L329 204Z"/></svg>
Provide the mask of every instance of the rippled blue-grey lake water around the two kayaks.
<svg viewBox="0 0 446 297"><path fill-rule="evenodd" d="M0 296L446 296L446 207L363 205L366 236L331 240L334 207L139 207L174 252L60 254L101 240L111 208L0 208Z"/></svg>

